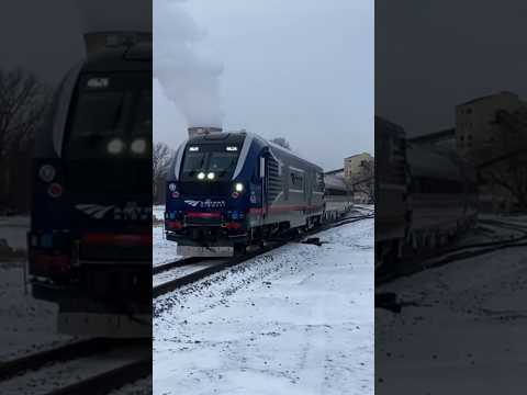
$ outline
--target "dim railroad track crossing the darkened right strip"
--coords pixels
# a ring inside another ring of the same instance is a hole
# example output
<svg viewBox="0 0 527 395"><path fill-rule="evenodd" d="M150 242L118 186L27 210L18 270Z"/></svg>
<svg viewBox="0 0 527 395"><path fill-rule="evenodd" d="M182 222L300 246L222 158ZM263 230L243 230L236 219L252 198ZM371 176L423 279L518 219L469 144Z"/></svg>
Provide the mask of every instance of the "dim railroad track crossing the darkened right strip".
<svg viewBox="0 0 527 395"><path fill-rule="evenodd" d="M508 240L475 242L471 245L464 245L464 246L444 249L439 252L440 253L439 258L437 257L437 253L434 256L426 255L426 256L408 258L405 261L406 262L405 270L400 272L375 274L375 285L385 284L401 276L410 276L423 270L438 268L448 263L452 263L455 261L475 258L479 256L492 253L503 249L527 247L527 226L520 226L520 225L495 221L495 219L482 219L481 222L487 223L494 226L503 227L506 229L516 230L522 233L523 235Z"/></svg>

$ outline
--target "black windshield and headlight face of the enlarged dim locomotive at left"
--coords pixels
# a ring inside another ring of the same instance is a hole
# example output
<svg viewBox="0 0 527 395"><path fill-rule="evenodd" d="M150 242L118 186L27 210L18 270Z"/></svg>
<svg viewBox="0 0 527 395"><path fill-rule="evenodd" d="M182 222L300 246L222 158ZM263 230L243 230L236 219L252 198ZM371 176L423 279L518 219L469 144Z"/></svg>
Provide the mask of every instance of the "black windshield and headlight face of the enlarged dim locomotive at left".
<svg viewBox="0 0 527 395"><path fill-rule="evenodd" d="M152 74L83 75L66 126L66 182L77 192L152 185Z"/></svg>

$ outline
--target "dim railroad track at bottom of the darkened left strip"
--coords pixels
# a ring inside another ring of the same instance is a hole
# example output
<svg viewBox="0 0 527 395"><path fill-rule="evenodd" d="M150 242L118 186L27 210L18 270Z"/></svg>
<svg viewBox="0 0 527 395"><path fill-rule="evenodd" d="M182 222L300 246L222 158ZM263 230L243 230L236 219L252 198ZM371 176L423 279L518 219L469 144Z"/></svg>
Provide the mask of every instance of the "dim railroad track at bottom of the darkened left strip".
<svg viewBox="0 0 527 395"><path fill-rule="evenodd" d="M150 374L150 339L88 339L1 363L0 393L102 395Z"/></svg>

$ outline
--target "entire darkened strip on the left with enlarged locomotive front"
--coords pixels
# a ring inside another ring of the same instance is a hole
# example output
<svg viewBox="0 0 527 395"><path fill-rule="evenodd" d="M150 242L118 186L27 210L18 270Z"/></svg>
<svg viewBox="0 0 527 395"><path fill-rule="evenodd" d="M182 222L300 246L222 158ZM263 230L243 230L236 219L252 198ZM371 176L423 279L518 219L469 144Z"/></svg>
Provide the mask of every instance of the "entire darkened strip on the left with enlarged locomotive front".
<svg viewBox="0 0 527 395"><path fill-rule="evenodd" d="M149 393L152 1L5 1L0 32L0 392Z"/></svg>

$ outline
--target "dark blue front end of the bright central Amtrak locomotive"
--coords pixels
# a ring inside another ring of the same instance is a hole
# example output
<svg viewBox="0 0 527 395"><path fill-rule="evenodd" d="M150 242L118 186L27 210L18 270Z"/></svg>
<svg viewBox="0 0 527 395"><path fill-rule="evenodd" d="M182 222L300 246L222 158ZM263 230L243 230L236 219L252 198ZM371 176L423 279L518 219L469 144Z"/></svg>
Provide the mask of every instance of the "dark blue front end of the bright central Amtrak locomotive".
<svg viewBox="0 0 527 395"><path fill-rule="evenodd" d="M167 178L165 230L183 257L232 257L249 239L258 191L247 177L243 133L195 136L176 154ZM261 193L261 190L259 191Z"/></svg>

